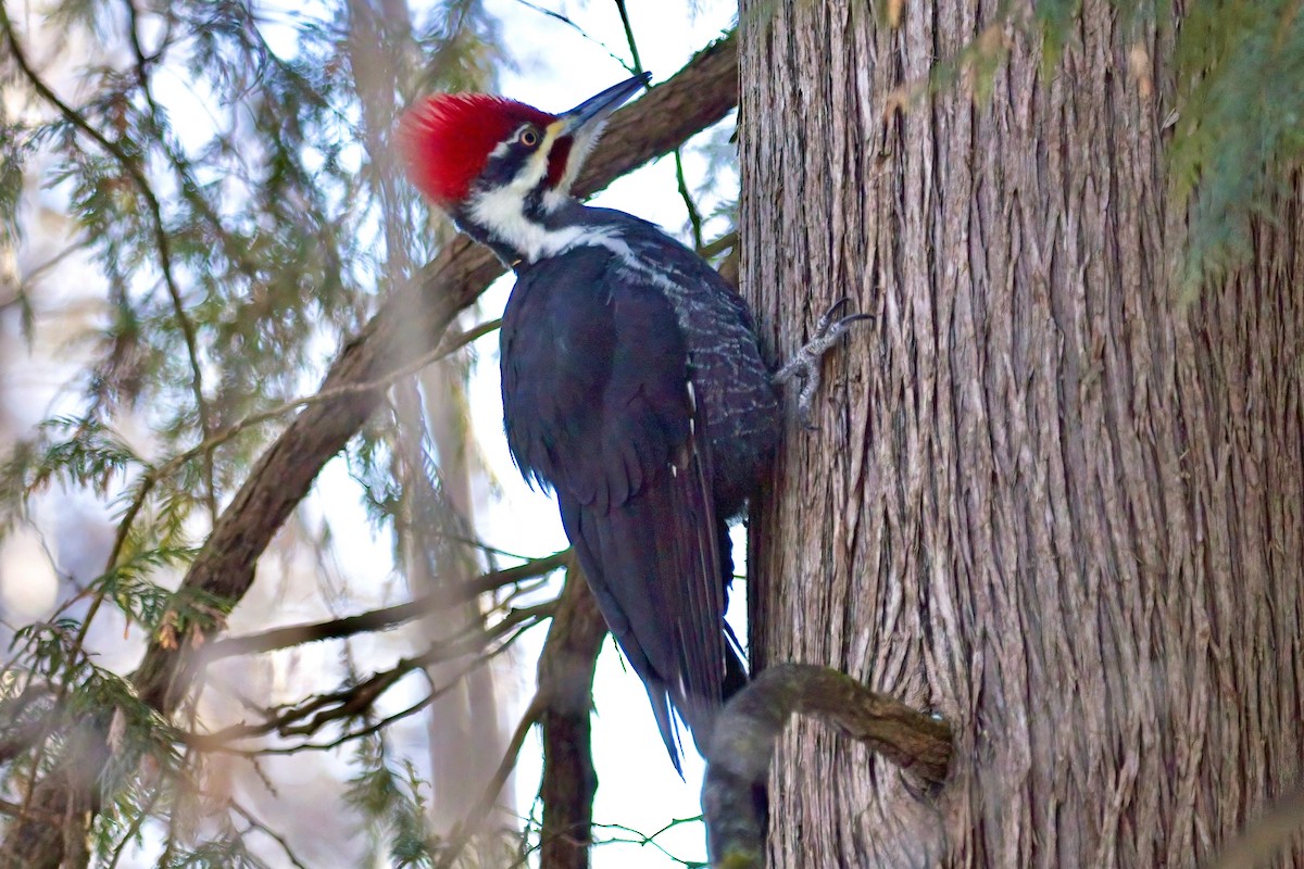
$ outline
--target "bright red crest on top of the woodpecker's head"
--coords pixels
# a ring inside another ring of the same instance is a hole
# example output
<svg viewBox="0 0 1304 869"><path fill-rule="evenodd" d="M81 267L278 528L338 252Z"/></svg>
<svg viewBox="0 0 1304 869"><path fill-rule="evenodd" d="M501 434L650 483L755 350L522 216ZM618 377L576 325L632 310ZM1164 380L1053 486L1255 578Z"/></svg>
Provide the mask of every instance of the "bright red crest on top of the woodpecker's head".
<svg viewBox="0 0 1304 869"><path fill-rule="evenodd" d="M408 176L449 207L467 198L489 154L522 124L548 126L553 115L488 94L441 94L413 107L399 128ZM552 175L552 172L549 172Z"/></svg>

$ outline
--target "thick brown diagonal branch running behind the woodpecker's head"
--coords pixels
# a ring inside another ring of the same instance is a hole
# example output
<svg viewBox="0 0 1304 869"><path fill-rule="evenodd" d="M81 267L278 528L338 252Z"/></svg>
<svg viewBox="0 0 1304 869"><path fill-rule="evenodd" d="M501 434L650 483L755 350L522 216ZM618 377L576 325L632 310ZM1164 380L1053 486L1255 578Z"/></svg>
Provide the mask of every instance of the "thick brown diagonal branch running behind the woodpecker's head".
<svg viewBox="0 0 1304 869"><path fill-rule="evenodd" d="M617 112L575 182L576 194L605 186L722 119L737 104L735 65L734 40L721 40L665 85ZM317 473L376 409L385 387L368 384L436 347L452 317L499 274L502 266L488 250L459 237L422 270L413 297L390 300L331 365L322 383L330 397L305 408L259 457L186 572L184 588L239 602L253 582L258 558ZM197 640L181 632L180 648L151 644L133 676L141 698L166 715L189 689L202 645ZM102 735L98 741L93 748L102 749ZM85 864L85 848L74 855L63 842L86 840L95 805L87 783L98 775L100 753L69 750L57 769L35 784L31 804L42 809L40 816L9 825L0 868ZM63 836L43 833L50 816L68 818Z"/></svg>

